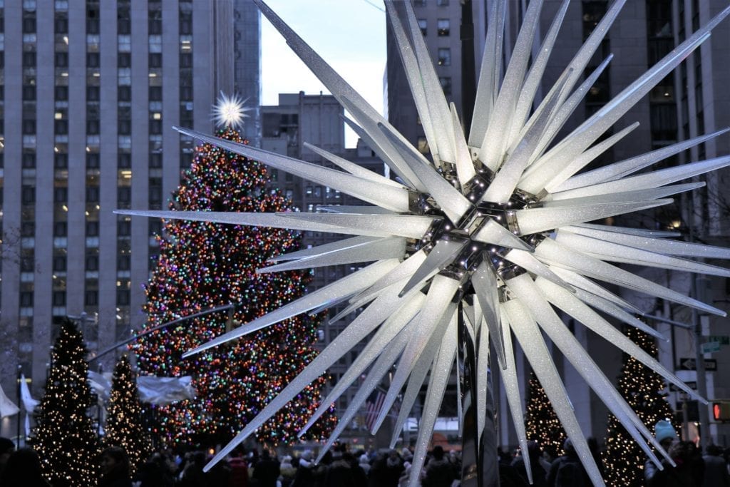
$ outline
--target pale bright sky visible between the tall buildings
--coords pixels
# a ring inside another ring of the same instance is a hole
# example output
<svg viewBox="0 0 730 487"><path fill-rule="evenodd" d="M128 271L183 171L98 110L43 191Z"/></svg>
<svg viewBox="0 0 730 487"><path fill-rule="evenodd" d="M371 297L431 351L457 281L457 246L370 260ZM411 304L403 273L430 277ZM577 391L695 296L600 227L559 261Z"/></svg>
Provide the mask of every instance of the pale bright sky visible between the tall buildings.
<svg viewBox="0 0 730 487"><path fill-rule="evenodd" d="M383 112L385 12L379 0L267 0L347 83ZM328 93L279 32L261 15L261 103L278 103L279 93ZM349 131L347 147L354 147Z"/></svg>

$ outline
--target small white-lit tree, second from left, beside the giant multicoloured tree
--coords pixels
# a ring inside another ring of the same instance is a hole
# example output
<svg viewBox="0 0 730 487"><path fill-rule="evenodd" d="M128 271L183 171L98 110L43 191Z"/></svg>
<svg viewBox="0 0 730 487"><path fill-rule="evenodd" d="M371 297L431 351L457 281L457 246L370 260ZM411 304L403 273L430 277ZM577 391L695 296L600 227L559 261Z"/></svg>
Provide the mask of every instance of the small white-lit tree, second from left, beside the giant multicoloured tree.
<svg viewBox="0 0 730 487"><path fill-rule="evenodd" d="M142 428L141 416L137 375L132 372L128 358L123 356L114 368L104 445L124 448L129 456L132 474L147 459L151 450L147 432Z"/></svg>

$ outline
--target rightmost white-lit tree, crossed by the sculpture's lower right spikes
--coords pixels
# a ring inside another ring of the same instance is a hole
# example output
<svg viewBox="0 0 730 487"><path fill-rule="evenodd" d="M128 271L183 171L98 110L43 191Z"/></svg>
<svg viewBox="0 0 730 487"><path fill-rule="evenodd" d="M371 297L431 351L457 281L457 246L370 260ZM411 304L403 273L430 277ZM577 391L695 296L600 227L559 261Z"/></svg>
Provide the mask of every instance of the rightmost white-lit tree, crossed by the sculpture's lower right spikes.
<svg viewBox="0 0 730 487"><path fill-rule="evenodd" d="M634 340L650 356L656 358L656 342L648 333L629 327L626 336ZM665 399L665 387L666 383L661 375L653 372L627 353L623 354L618 391L651 432L654 431L654 425L660 419L672 421L674 418L672 407ZM643 486L645 460L646 455L639 445L634 442L616 417L609 415L606 450L603 457L607 484L625 487Z"/></svg>

